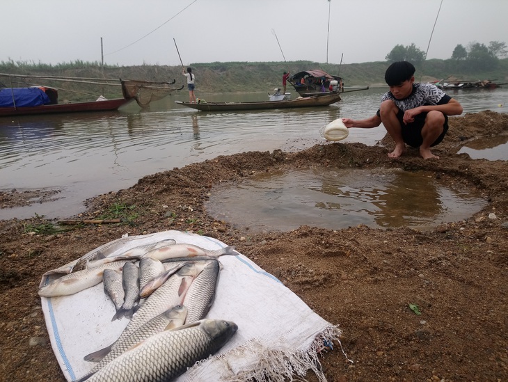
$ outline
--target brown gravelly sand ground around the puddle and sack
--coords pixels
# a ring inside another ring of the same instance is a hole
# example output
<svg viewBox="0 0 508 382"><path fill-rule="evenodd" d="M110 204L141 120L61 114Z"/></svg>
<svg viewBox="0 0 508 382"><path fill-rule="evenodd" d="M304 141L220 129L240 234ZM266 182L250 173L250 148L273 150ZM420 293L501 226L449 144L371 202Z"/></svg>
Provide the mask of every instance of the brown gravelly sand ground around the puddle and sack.
<svg viewBox="0 0 508 382"><path fill-rule="evenodd" d="M189 230L236 246L340 325L342 347L354 363L340 347L323 353L328 381L508 381L508 164L457 154L466 143L502 134L508 134L508 115L486 111L450 118L450 132L434 150L439 160L424 161L418 150L388 159L389 140L376 147L325 143L292 153L245 152L143 177L88 200L86 214L70 216L120 223L0 221L0 380L65 381L37 294L42 273L127 232ZM429 232L360 225L254 234L205 210L219 182L324 166L431 171L441 183L477 189L488 205ZM0 207L44 197L1 193Z"/></svg>

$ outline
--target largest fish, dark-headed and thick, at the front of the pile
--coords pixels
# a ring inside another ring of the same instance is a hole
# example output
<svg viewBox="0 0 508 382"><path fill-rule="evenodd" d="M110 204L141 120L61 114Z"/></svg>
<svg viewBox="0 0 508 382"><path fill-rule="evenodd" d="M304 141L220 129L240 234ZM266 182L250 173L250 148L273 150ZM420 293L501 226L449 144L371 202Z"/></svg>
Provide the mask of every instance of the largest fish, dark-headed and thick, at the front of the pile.
<svg viewBox="0 0 508 382"><path fill-rule="evenodd" d="M88 381L173 381L188 367L219 351L237 330L232 321L203 319L152 335L112 360Z"/></svg>

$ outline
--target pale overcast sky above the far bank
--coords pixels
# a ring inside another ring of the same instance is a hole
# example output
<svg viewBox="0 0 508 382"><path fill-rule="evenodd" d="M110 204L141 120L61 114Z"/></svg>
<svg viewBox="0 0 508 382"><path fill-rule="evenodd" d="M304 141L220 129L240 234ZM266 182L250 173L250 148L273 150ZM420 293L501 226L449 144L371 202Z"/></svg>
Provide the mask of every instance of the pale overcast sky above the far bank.
<svg viewBox="0 0 508 382"><path fill-rule="evenodd" d="M427 58L444 59L457 44L508 44L507 0L443 0L440 11L441 0L1 2L0 61L100 62L101 38L104 63L118 65L180 65L173 38L184 65L325 63L327 52L328 63L385 61L395 45L427 51L429 39Z"/></svg>

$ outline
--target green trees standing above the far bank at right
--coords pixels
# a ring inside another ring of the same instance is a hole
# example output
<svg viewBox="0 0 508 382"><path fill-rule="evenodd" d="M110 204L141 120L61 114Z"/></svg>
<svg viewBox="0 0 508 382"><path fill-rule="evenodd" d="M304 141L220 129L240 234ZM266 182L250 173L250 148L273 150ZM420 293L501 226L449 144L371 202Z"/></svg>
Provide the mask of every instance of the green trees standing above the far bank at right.
<svg viewBox="0 0 508 382"><path fill-rule="evenodd" d="M461 70L495 70L498 68L500 58L508 55L505 42L491 41L489 46L479 42L470 42L467 47L459 44L450 57L451 63L457 71ZM385 57L386 61L411 61L418 65L423 63L427 55L413 43L408 46L395 45Z"/></svg>

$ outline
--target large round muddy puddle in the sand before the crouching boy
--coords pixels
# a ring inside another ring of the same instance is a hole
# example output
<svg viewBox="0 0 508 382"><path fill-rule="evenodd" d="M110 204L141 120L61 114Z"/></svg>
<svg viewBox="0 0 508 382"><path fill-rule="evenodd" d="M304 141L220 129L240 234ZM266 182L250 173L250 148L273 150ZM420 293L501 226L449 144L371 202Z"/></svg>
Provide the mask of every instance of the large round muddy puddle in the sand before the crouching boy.
<svg viewBox="0 0 508 382"><path fill-rule="evenodd" d="M214 218L251 232L358 224L430 230L485 206L477 191L463 184L449 188L432 173L333 168L260 174L219 185L206 204Z"/></svg>

